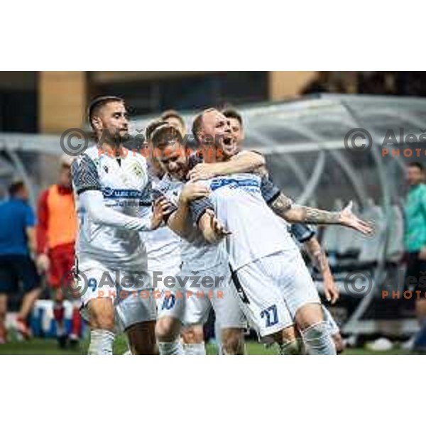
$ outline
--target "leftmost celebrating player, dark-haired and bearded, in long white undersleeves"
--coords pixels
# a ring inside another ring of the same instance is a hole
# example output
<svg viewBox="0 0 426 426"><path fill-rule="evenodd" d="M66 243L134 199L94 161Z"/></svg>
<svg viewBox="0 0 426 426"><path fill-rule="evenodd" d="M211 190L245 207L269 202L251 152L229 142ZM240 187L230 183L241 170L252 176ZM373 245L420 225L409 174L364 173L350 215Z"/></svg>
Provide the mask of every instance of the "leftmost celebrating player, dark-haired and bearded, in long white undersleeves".
<svg viewBox="0 0 426 426"><path fill-rule="evenodd" d="M89 354L112 354L114 320L133 354L155 354L156 307L141 231L156 229L170 204L158 200L151 214L146 160L122 149L129 138L124 100L94 99L88 115L97 146L72 163L72 184L80 222L77 285L91 329Z"/></svg>

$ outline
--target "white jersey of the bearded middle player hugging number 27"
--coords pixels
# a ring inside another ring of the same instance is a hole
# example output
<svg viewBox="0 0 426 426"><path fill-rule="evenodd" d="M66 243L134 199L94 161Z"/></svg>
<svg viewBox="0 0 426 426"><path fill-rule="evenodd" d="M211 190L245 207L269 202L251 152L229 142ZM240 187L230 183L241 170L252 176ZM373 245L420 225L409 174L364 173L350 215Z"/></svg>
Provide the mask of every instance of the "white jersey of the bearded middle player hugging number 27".
<svg viewBox="0 0 426 426"><path fill-rule="evenodd" d="M156 190L165 195L175 206L178 206L180 192L184 185L184 182L165 175ZM204 271L227 262L228 256L226 255L224 241L219 244L207 243L195 224L192 225L187 239L181 241L182 269L185 271Z"/></svg>

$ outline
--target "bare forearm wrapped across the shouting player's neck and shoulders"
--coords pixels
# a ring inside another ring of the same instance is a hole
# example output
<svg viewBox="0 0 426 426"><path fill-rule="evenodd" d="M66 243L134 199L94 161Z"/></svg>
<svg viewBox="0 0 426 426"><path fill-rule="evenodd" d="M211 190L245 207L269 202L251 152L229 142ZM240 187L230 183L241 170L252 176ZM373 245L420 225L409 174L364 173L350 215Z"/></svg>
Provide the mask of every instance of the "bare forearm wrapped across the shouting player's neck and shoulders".
<svg viewBox="0 0 426 426"><path fill-rule="evenodd" d="M233 173L260 173L266 170L265 165L265 158L260 153L241 151L227 161L195 165L188 173L188 178L190 180L203 180Z"/></svg>

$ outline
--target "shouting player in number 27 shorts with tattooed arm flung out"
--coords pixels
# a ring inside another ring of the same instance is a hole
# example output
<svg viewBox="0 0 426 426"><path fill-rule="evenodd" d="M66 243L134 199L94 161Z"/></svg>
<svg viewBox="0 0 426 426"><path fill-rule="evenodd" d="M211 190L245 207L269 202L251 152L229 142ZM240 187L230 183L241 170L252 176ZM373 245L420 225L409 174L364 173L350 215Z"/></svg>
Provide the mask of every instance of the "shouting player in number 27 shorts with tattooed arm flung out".
<svg viewBox="0 0 426 426"><path fill-rule="evenodd" d="M221 161L219 167L228 170L226 160L234 155L235 144L226 117L208 109L196 117L192 129L204 162ZM288 353L288 348L299 351L295 323L308 354L335 354L312 278L285 225L262 199L262 192L274 211L288 222L341 224L364 234L371 233L371 226L357 218L350 205L342 212L296 206L272 185L261 188L261 178L256 175L238 173L204 183L212 190L209 198L219 220L231 231L226 249L251 324L261 337L275 337L283 353Z"/></svg>

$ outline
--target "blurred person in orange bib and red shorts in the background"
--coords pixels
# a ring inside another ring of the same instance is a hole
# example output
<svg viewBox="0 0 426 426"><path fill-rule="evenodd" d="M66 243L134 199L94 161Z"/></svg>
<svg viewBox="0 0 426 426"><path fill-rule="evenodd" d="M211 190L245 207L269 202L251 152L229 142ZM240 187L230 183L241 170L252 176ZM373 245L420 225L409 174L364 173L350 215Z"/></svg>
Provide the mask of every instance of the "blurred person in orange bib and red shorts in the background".
<svg viewBox="0 0 426 426"><path fill-rule="evenodd" d="M62 156L58 183L45 190L38 200L37 264L40 271L47 273L48 284L52 291L53 316L60 347L65 347L68 339L70 344L75 346L81 332L77 301L74 301L69 336L65 329L64 290L72 280L77 233L77 217L70 175L71 163L72 158L67 155Z"/></svg>

